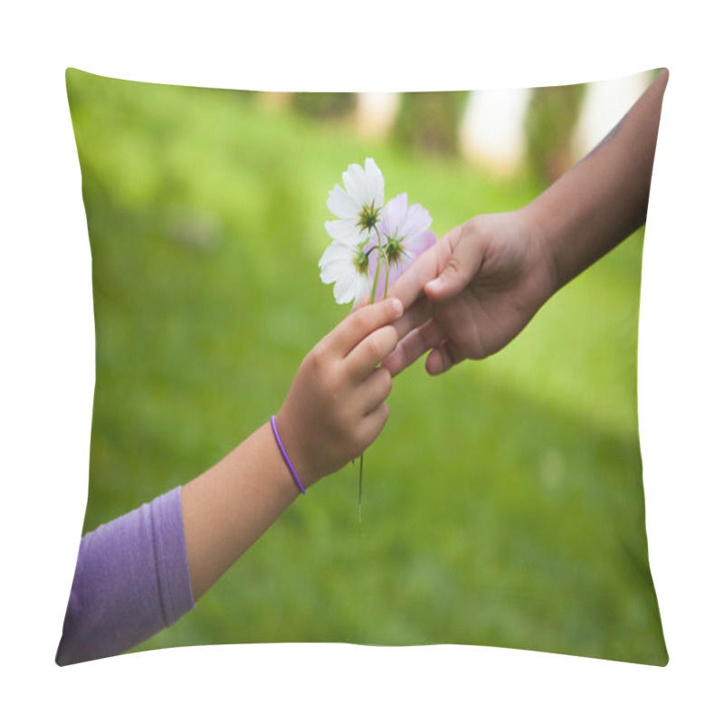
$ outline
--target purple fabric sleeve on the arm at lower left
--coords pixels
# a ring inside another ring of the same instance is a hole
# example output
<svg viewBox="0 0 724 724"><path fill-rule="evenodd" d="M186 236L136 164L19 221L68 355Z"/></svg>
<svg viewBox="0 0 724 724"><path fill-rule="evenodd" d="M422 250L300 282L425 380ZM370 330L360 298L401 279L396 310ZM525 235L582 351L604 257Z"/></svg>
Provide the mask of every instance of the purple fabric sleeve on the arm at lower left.
<svg viewBox="0 0 724 724"><path fill-rule="evenodd" d="M179 487L83 536L55 662L123 653L192 608Z"/></svg>

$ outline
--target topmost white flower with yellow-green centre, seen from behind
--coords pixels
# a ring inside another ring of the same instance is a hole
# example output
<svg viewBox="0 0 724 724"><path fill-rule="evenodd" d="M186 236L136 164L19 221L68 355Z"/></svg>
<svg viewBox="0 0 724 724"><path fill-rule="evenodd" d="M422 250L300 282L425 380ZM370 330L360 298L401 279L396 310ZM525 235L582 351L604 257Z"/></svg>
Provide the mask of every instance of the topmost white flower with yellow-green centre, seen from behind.
<svg viewBox="0 0 724 724"><path fill-rule="evenodd" d="M329 211L338 218L324 226L333 240L356 247L367 242L380 220L385 205L385 177L374 158L366 158L364 168L350 164L342 181L345 188L335 185L327 199Z"/></svg>

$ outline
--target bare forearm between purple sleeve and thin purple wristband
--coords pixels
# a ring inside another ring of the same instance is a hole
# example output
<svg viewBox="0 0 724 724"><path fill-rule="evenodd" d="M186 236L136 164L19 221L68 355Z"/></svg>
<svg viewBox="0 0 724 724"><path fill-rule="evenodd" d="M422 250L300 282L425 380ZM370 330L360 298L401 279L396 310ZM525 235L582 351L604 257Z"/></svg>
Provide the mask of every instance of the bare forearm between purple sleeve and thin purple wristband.
<svg viewBox="0 0 724 724"><path fill-rule="evenodd" d="M265 424L181 490L197 601L300 494Z"/></svg>

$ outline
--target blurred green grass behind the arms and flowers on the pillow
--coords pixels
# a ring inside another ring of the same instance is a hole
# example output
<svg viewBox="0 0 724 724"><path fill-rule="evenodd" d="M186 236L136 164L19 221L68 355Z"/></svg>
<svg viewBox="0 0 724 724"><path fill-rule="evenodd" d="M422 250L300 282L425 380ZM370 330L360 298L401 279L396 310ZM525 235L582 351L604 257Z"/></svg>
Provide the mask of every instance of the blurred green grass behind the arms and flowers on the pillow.
<svg viewBox="0 0 724 724"><path fill-rule="evenodd" d="M194 478L277 410L346 310L319 281L326 199L375 157L444 233L540 188L258 96L68 71L93 256L84 531ZM500 354L395 381L385 432L138 649L479 643L663 664L636 420L643 233Z"/></svg>

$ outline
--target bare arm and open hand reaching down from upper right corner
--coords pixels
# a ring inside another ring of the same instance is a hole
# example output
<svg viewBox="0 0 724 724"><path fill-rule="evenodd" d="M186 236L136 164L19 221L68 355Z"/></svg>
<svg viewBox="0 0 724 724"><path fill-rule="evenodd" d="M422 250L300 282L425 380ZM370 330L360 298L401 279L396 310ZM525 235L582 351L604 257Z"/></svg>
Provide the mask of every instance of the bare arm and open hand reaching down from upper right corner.
<svg viewBox="0 0 724 724"><path fill-rule="evenodd" d="M669 73L661 71L595 148L528 206L446 233L392 287L405 314L383 363L393 375L430 350L440 374L497 352L567 281L646 219Z"/></svg>

